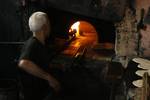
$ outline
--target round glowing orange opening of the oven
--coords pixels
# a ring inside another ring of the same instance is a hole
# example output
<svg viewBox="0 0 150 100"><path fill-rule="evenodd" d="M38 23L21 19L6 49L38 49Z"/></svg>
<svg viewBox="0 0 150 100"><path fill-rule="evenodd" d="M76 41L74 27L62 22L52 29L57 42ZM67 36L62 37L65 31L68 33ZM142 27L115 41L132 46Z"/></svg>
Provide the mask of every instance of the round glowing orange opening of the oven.
<svg viewBox="0 0 150 100"><path fill-rule="evenodd" d="M98 34L94 26L87 21L77 21L68 30L69 39L82 45L95 45L98 43Z"/></svg>

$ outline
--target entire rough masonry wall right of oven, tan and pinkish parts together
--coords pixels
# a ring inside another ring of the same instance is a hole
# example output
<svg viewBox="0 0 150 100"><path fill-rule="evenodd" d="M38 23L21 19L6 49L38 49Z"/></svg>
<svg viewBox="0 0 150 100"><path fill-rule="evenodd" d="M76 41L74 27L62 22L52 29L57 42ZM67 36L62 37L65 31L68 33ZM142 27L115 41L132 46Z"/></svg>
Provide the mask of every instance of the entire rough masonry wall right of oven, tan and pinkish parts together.
<svg viewBox="0 0 150 100"><path fill-rule="evenodd" d="M150 0L136 0L116 23L116 59L126 68L133 57L150 57ZM143 18L142 18L143 9Z"/></svg>

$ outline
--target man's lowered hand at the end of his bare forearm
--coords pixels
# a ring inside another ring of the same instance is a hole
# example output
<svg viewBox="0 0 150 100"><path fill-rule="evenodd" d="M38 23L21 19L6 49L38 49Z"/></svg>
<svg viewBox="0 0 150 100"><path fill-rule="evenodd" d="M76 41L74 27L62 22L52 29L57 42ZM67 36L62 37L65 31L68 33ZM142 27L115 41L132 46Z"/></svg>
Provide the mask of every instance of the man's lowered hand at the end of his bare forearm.
<svg viewBox="0 0 150 100"><path fill-rule="evenodd" d="M55 92L60 91L60 84L55 78L48 76L48 83L55 90Z"/></svg>

